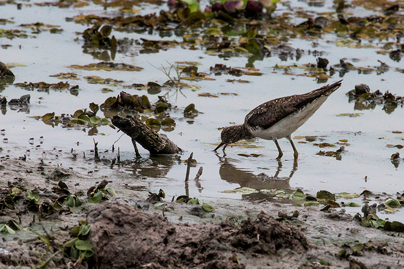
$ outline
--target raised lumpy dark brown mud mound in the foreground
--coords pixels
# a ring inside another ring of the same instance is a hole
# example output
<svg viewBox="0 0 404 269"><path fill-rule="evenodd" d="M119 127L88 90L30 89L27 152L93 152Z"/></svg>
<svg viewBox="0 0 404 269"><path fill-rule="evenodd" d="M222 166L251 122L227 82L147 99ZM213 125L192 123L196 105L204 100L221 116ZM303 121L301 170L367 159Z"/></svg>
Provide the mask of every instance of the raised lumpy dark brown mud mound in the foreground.
<svg viewBox="0 0 404 269"><path fill-rule="evenodd" d="M245 266L230 259L234 252L248 256L275 253L279 248L309 248L301 232L264 212L239 228L229 222L172 224L158 214L110 203L90 211L87 222L96 268L236 269Z"/></svg>

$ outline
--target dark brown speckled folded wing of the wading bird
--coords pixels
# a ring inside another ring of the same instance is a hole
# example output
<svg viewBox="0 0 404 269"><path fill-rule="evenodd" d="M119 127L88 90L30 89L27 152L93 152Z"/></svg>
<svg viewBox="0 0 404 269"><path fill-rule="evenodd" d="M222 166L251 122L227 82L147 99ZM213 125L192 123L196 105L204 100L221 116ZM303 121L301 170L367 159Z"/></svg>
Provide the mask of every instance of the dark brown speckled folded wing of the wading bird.
<svg viewBox="0 0 404 269"><path fill-rule="evenodd" d="M257 106L245 116L244 124L251 128L268 129L286 116L295 113L323 95L330 95L341 86L341 81L304 94L273 99Z"/></svg>

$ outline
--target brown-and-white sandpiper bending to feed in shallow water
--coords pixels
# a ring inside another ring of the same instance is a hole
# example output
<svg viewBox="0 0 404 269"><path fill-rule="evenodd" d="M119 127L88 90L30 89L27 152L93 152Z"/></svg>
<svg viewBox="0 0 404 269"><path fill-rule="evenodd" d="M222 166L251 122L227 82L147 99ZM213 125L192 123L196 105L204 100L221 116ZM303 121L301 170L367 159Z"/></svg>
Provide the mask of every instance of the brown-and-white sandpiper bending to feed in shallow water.
<svg viewBox="0 0 404 269"><path fill-rule="evenodd" d="M296 159L299 153L293 144L291 134L307 122L327 97L341 86L341 81L305 94L285 96L260 104L245 116L243 124L223 128L222 142L214 150L222 145L224 150L228 144L241 139L260 137L275 142L279 151L276 159L279 160L283 153L278 139L285 137L292 145L293 156Z"/></svg>

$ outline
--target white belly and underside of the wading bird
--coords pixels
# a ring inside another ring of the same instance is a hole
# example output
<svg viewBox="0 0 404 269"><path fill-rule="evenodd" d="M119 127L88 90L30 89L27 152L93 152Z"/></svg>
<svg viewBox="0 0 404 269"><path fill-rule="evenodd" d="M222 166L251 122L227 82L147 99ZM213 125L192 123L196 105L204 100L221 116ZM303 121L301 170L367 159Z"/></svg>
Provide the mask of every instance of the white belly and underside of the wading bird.
<svg viewBox="0 0 404 269"><path fill-rule="evenodd" d="M325 102L327 97L328 96L321 96L320 98L305 106L303 109L294 114L286 116L268 129L263 130L261 128L249 128L249 131L255 137L259 137L262 139L272 140L273 137L275 137L276 139L284 138L292 134L294 131L297 130L297 128L307 122L307 120L309 120L309 118Z"/></svg>

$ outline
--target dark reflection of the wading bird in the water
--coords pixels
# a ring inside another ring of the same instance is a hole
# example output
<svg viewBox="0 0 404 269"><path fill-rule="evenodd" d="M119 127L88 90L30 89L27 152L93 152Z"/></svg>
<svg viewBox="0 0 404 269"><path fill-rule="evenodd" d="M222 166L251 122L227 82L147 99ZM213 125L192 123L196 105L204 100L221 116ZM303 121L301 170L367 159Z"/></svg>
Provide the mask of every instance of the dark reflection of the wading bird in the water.
<svg viewBox="0 0 404 269"><path fill-rule="evenodd" d="M284 170L282 162L280 160L278 160L277 162L278 164L276 167L276 172L273 176L269 176L265 173L255 175L254 173L246 169L237 168L235 164L239 162L239 160L228 158L226 156L219 156L219 153L217 153L216 155L219 157L219 161L221 163L219 175L222 180L225 180L229 183L236 183L240 185L241 188L247 187L258 191L282 189L285 192L293 192L290 190L289 181L292 178L293 174L297 171L297 159L293 160L293 166L290 170L289 175L286 177L280 177L279 175ZM262 192L243 194L243 198L253 200L271 200L271 197Z"/></svg>

